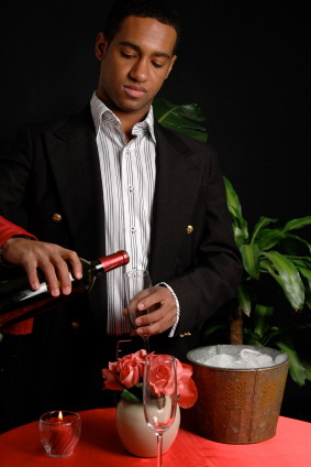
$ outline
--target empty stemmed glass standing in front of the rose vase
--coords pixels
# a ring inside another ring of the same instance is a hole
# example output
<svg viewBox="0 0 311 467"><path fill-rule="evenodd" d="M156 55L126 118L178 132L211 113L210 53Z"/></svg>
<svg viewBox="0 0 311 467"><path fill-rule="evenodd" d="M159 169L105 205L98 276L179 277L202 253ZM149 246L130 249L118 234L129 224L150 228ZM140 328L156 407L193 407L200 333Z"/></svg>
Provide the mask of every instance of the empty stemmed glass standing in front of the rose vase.
<svg viewBox="0 0 311 467"><path fill-rule="evenodd" d="M157 467L162 467L163 434L173 425L177 408L177 372L173 356L154 354L146 357L143 403L147 425L157 437Z"/></svg>

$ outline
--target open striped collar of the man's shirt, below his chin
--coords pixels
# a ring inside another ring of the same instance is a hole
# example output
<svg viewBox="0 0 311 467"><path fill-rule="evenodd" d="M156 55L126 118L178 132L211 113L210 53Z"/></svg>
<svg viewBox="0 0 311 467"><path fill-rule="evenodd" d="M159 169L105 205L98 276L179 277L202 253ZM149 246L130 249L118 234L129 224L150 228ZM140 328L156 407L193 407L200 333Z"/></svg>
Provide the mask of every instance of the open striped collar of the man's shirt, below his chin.
<svg viewBox="0 0 311 467"><path fill-rule="evenodd" d="M121 127L120 119L110 110L105 104L100 100L96 93L93 93L91 101L91 115L96 128L96 134L99 131L100 124L102 121L112 122L114 124L118 124ZM146 118L143 121L140 121L133 127L132 134L138 135L141 133L145 133L146 131L149 132L151 137L153 138L154 142L155 139L155 132L154 132L154 111L153 106L151 106L149 111L146 116Z"/></svg>

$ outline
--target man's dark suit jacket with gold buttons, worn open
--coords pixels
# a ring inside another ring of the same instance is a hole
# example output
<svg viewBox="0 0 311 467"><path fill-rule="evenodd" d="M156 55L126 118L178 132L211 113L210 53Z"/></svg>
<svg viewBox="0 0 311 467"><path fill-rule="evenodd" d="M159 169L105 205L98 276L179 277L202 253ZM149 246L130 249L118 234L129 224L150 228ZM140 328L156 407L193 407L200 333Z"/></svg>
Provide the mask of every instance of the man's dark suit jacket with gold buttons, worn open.
<svg viewBox="0 0 311 467"><path fill-rule="evenodd" d="M187 350L198 345L198 325L234 295L241 275L240 254L213 150L157 122L155 135L156 187L148 268L153 283L166 281L171 285L181 315L175 338L168 339L165 333L151 341L157 351L185 359ZM62 215L60 222L53 221L55 213ZM0 214L40 240L74 249L82 258L105 254L101 176L89 106L77 116L21 132L0 159ZM187 234L187 226L193 227L191 234ZM104 339L104 279L97 281L88 300L90 307L85 298L65 315L57 312L36 318L36 345L52 346L51 336L66 341L73 319L87 319L88 325L82 327L93 326L98 337ZM88 333L81 328L79 333L85 343L89 341ZM185 333L191 335L180 337Z"/></svg>

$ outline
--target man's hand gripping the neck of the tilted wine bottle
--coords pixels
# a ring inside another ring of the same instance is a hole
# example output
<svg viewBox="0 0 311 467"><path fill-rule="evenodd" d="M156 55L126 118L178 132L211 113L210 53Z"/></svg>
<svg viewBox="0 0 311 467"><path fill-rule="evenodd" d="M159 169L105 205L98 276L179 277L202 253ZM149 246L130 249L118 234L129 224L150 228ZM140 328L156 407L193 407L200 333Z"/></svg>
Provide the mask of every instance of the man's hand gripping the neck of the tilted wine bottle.
<svg viewBox="0 0 311 467"><path fill-rule="evenodd" d="M37 278L37 268L40 268L53 296L59 295L59 289L65 295L71 292L67 261L71 264L73 275L76 279L82 276L82 267L77 253L54 243L12 237L2 247L2 258L25 270L34 291L40 287Z"/></svg>

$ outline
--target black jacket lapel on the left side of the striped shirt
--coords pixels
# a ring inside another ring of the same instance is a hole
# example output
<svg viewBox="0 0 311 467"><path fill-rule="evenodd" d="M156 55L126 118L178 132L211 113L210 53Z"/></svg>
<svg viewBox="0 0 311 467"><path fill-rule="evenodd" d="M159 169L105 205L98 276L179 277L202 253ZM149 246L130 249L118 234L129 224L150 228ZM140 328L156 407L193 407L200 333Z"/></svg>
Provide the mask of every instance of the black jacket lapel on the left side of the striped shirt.
<svg viewBox="0 0 311 467"><path fill-rule="evenodd" d="M102 185L89 106L54 133L47 151L65 217L77 252L88 259L104 254Z"/></svg>

